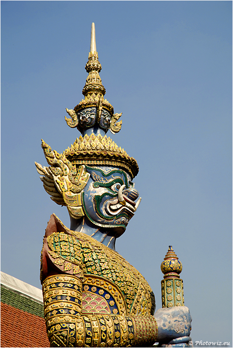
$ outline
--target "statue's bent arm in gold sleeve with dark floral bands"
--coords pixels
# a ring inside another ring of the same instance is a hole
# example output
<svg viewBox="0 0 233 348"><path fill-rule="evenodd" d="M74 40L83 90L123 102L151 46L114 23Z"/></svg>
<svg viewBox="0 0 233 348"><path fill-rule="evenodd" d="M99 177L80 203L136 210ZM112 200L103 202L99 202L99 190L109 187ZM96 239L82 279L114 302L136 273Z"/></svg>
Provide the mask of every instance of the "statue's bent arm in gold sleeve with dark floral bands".
<svg viewBox="0 0 233 348"><path fill-rule="evenodd" d="M56 297L58 288L59 293L66 295L70 287L76 287L76 297L68 300ZM156 340L158 328L152 316L82 315L81 289L81 281L73 276L51 276L44 281L44 295L54 298L52 305L44 300L51 347L134 347L145 342L151 345Z"/></svg>

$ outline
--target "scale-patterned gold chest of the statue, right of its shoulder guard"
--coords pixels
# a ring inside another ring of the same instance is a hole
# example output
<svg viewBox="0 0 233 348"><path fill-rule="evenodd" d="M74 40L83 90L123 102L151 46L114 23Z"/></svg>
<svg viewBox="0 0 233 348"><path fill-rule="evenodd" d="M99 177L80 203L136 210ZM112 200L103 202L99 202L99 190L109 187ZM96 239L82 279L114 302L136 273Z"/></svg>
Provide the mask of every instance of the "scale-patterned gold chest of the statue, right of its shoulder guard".
<svg viewBox="0 0 233 348"><path fill-rule="evenodd" d="M96 277L110 282L109 289L113 293L116 292L114 287L117 287L125 298L127 313L131 315L154 313L154 294L136 268L116 251L93 238L79 235L78 239L82 244L84 276L87 279L89 277L89 282L93 282Z"/></svg>

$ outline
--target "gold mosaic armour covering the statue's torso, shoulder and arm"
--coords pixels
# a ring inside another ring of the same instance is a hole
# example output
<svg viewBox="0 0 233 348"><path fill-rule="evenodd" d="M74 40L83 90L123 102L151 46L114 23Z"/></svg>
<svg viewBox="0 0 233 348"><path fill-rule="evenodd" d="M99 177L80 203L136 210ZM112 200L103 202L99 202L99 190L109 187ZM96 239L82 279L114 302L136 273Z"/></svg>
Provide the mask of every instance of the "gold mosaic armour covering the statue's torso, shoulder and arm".
<svg viewBox="0 0 233 348"><path fill-rule="evenodd" d="M52 347L148 347L157 336L154 295L116 251L53 214L41 258Z"/></svg>

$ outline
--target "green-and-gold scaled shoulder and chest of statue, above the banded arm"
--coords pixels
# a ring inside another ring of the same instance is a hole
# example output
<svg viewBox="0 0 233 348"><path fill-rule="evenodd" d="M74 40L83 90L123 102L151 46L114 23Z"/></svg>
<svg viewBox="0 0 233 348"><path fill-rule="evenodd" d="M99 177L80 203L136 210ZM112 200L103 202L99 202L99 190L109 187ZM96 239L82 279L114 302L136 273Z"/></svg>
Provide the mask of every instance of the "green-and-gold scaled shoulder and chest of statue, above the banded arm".
<svg viewBox="0 0 233 348"><path fill-rule="evenodd" d="M109 294L117 294L119 301L125 299L126 314L150 315L152 290L144 277L117 252L85 234L64 228L66 232L53 233L47 238L51 261L61 271L81 278L84 275L85 285L96 287L99 284L104 289L107 282ZM97 281L100 277L101 281Z"/></svg>

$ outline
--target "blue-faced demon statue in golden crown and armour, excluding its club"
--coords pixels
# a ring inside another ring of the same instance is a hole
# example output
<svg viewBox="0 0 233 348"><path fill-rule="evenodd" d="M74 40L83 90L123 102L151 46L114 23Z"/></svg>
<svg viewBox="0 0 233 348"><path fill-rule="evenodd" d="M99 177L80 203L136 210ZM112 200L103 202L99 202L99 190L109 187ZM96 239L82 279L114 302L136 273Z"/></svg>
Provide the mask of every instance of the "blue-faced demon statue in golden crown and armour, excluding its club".
<svg viewBox="0 0 233 348"><path fill-rule="evenodd" d="M48 167L36 163L53 201L66 206L70 229L53 214L41 252L44 313L51 347L188 347L186 307L156 312L144 277L115 251L141 198L137 162L106 136L120 131L121 114L104 99L94 24L85 99L66 109L77 138L63 154L42 140ZM167 285L168 286L168 285Z"/></svg>

